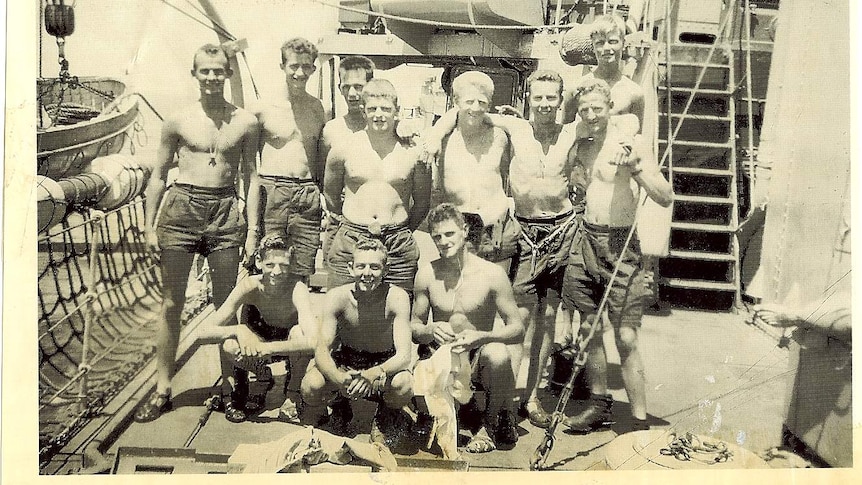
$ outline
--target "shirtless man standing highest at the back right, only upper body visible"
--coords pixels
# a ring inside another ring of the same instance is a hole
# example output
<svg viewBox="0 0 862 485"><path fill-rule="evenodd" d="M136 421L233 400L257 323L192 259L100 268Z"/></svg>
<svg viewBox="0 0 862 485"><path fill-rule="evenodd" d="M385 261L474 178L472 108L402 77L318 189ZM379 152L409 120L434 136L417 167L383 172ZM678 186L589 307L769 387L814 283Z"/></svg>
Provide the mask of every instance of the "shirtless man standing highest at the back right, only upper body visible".
<svg viewBox="0 0 862 485"><path fill-rule="evenodd" d="M626 25L623 19L615 14L603 15L592 24L590 39L596 53L598 66L593 71L578 80L578 83L590 79L601 79L611 87L611 99L614 102L611 115L631 113L638 118L638 133L644 120L643 89L634 81L623 75L620 69L623 50L625 49ZM563 103L563 123L571 123L578 114L575 101L577 88L567 90Z"/></svg>

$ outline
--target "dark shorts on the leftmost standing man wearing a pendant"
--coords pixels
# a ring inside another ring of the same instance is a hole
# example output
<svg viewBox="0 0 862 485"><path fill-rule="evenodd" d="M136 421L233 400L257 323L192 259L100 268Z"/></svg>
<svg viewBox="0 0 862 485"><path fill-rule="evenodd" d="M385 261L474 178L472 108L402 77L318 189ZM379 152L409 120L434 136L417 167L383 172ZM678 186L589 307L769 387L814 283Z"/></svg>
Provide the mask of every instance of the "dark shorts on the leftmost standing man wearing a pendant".
<svg viewBox="0 0 862 485"><path fill-rule="evenodd" d="M156 235L162 249L207 255L241 247L246 227L233 186L175 183L165 194Z"/></svg>

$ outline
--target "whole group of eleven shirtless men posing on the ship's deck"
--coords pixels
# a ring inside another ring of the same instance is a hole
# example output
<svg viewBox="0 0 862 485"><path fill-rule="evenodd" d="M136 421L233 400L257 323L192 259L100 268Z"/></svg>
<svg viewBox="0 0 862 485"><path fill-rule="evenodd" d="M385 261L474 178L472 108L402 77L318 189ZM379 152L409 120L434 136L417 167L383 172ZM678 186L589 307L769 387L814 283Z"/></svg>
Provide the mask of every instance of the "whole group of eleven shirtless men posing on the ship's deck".
<svg viewBox="0 0 862 485"><path fill-rule="evenodd" d="M271 382L268 364L285 361L284 419L328 420L337 429L351 419L350 400L367 398L378 403L371 438L388 443L389 431L405 429L405 409L423 417L412 392L417 354L452 344L469 353L474 383L487 396L467 451L512 445L519 401L531 424L550 423L538 390L560 297L588 326L624 253L609 321L632 424L643 426L637 238L623 246L640 189L665 206L673 194L637 135L643 100L619 72L620 22L595 22L599 65L571 94L553 71L529 77L530 121L488 114L493 82L471 71L453 80L455 108L418 143L396 134L395 88L373 77L365 57L342 59L348 112L326 122L305 89L317 57L307 40L281 49L286 99L251 110L224 98L232 72L222 49L199 49L191 73L200 100L165 121L147 187L146 236L160 254L164 302L157 386L135 419L171 408L180 313L198 253L208 260L216 307L200 338L221 345L228 420L243 421L262 405L249 395L249 373ZM577 121L557 122L564 105L564 120ZM178 176L166 190L174 163ZM432 183L446 201L433 209ZM413 231L423 221L440 258L419 267ZM330 285L319 311L307 283L321 239ZM237 281L241 259L260 274ZM590 403L564 422L583 432L610 418L601 339L589 350ZM516 382L526 383L521 396Z"/></svg>

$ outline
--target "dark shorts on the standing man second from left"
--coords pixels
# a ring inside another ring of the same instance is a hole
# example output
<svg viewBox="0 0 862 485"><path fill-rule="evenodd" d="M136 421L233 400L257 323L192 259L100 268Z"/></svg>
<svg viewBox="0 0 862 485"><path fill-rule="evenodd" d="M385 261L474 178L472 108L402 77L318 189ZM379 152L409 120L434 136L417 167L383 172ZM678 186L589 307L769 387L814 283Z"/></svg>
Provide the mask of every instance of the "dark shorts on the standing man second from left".
<svg viewBox="0 0 862 485"><path fill-rule="evenodd" d="M293 246L294 274L314 273L314 256L320 246L320 189L313 180L259 175L262 235L285 235Z"/></svg>

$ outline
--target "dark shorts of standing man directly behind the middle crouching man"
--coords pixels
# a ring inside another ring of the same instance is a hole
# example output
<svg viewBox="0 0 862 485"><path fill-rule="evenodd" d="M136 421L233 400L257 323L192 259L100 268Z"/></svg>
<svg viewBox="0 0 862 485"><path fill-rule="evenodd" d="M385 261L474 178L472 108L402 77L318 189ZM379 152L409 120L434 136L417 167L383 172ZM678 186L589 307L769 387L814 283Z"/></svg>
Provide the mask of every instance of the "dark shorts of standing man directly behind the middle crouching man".
<svg viewBox="0 0 862 485"><path fill-rule="evenodd" d="M342 220L329 244L326 263L329 266L329 287L353 282L347 263L353 261L353 247L358 241L379 239L386 247L389 269L386 283L413 290L413 278L419 268L419 247L413 232L403 224L386 225L372 234L368 227Z"/></svg>

